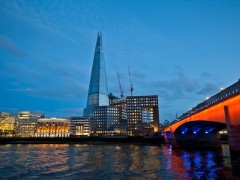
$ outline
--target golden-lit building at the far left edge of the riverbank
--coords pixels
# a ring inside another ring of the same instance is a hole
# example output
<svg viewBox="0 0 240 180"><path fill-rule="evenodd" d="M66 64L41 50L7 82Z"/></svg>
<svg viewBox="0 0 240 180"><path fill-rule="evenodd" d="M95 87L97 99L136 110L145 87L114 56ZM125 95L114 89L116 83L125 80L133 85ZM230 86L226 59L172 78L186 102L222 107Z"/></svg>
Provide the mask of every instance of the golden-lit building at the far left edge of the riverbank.
<svg viewBox="0 0 240 180"><path fill-rule="evenodd" d="M0 113L0 136L14 136L16 117L9 113Z"/></svg>

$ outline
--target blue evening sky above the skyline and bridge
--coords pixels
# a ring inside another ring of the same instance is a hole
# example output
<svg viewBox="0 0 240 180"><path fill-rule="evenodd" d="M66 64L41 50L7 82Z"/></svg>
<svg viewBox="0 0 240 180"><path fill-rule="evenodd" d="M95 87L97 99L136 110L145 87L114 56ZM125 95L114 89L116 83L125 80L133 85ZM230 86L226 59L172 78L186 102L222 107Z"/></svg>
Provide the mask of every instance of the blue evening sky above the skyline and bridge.
<svg viewBox="0 0 240 180"><path fill-rule="evenodd" d="M173 120L240 78L240 1L0 0L0 111L82 114L98 31L108 89Z"/></svg>

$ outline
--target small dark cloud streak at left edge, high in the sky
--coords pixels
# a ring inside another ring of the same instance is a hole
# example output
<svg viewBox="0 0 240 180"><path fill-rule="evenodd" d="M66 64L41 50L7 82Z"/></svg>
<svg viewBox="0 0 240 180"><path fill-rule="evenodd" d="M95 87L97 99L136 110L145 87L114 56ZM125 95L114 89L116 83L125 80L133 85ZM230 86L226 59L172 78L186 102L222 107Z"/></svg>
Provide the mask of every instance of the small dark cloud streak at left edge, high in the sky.
<svg viewBox="0 0 240 180"><path fill-rule="evenodd" d="M15 57L27 57L27 53L18 48L5 36L0 36L0 48Z"/></svg>

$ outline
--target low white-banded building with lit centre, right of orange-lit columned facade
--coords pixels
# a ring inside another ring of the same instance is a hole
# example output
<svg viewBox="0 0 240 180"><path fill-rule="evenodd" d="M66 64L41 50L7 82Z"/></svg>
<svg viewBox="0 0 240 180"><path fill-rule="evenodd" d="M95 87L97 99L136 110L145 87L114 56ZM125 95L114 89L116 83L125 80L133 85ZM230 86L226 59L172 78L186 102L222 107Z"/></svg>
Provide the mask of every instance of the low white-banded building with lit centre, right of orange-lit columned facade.
<svg viewBox="0 0 240 180"><path fill-rule="evenodd" d="M71 117L70 118L70 135L89 136L90 135L90 118Z"/></svg>

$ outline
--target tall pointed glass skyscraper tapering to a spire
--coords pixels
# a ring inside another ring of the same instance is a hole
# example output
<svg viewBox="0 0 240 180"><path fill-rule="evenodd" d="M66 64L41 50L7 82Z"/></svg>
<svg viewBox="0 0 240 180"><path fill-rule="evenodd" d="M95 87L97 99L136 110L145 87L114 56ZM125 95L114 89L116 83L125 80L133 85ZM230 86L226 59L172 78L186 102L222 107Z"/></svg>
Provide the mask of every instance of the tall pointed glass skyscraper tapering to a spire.
<svg viewBox="0 0 240 180"><path fill-rule="evenodd" d="M95 53L93 58L92 73L88 89L87 107L84 109L84 116L93 117L95 106L107 106L108 88L103 56L102 34L98 33Z"/></svg>

